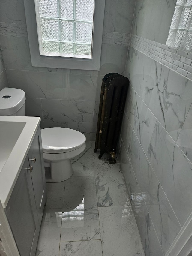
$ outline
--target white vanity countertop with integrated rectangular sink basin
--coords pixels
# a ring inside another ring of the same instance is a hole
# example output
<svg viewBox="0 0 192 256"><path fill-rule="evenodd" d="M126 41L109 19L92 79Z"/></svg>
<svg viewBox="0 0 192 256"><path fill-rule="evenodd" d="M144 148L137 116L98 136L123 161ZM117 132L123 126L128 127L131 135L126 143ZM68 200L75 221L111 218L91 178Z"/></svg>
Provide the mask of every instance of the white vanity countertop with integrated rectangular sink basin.
<svg viewBox="0 0 192 256"><path fill-rule="evenodd" d="M40 121L40 117L0 116L0 200L4 208Z"/></svg>

